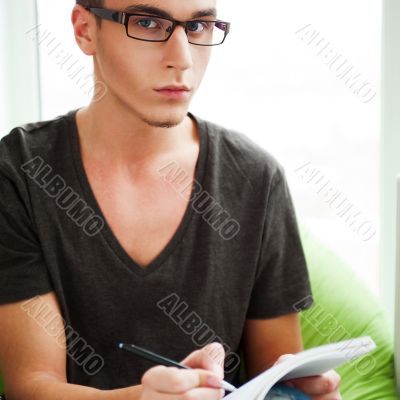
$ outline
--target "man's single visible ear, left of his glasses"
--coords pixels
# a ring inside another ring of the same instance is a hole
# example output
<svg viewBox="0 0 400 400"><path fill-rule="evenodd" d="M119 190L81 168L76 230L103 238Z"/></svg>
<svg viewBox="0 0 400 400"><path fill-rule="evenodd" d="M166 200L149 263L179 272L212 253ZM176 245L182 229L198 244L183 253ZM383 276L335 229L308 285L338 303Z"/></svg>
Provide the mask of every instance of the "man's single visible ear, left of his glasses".
<svg viewBox="0 0 400 400"><path fill-rule="evenodd" d="M80 49L88 56L96 54L96 20L94 16L81 5L75 5L71 22L74 28L75 40Z"/></svg>

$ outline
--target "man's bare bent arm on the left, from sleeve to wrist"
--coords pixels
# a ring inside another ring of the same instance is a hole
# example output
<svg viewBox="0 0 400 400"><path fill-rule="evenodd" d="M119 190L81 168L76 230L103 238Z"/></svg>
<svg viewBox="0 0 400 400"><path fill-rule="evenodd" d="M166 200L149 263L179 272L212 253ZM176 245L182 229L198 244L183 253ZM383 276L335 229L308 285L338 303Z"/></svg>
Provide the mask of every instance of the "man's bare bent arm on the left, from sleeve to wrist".
<svg viewBox="0 0 400 400"><path fill-rule="evenodd" d="M52 330L63 332L55 294L51 292L40 299L48 305L49 319L55 321L51 324ZM21 307L24 303L0 306L0 369L7 400L139 400L141 385L101 391L68 384L65 335L51 336Z"/></svg>

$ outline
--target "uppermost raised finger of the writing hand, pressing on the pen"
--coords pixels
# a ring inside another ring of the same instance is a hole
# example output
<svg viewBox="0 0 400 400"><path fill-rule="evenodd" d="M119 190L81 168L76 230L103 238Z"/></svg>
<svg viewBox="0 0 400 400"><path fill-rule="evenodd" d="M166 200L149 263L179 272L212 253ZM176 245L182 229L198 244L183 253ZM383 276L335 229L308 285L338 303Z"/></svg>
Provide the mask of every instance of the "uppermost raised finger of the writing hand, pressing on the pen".
<svg viewBox="0 0 400 400"><path fill-rule="evenodd" d="M187 356L182 363L192 368L202 368L212 371L221 379L224 377L225 351L220 343L214 342L196 350Z"/></svg>

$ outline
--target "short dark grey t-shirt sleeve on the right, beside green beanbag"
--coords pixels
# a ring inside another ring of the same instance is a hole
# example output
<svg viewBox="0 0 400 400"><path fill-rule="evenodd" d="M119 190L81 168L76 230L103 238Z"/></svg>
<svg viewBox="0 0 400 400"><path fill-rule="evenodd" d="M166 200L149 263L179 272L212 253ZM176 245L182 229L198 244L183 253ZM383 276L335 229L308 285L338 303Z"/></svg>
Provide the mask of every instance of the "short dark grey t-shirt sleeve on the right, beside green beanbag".
<svg viewBox="0 0 400 400"><path fill-rule="evenodd" d="M274 318L313 303L295 210L280 168L268 196L249 319Z"/></svg>

